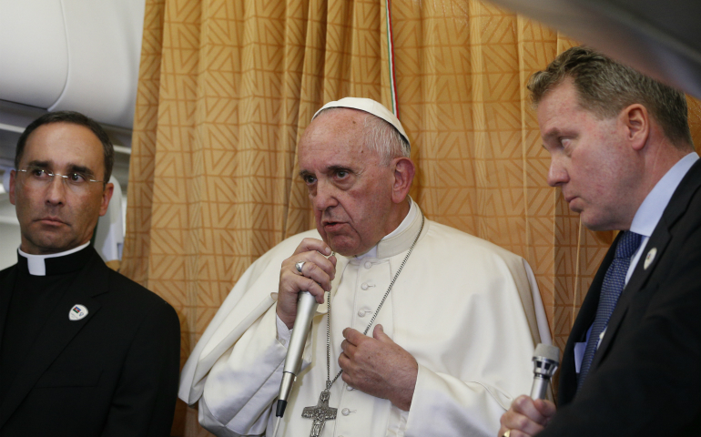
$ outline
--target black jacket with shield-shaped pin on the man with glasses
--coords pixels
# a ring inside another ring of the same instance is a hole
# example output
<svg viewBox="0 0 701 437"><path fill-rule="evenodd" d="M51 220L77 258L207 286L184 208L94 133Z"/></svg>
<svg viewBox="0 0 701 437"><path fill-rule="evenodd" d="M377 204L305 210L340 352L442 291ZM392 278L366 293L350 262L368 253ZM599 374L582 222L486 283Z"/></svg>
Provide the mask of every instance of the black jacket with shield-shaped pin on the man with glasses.
<svg viewBox="0 0 701 437"><path fill-rule="evenodd" d="M0 405L2 437L170 434L178 391L178 315L89 250L86 267L47 320ZM0 271L0 299L7 299L5 290L13 289L16 275L16 265ZM76 304L88 314L69 320Z"/></svg>

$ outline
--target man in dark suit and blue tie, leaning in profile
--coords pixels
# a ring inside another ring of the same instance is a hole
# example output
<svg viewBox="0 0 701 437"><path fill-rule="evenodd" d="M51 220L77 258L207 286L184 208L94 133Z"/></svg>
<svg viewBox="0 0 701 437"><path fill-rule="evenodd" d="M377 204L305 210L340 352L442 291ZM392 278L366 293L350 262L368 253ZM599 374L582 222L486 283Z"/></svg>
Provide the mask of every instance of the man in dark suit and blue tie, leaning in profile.
<svg viewBox="0 0 701 437"><path fill-rule="evenodd" d="M683 94L574 47L529 81L548 183L621 232L564 350L557 412L521 396L499 435L701 434L701 164Z"/></svg>

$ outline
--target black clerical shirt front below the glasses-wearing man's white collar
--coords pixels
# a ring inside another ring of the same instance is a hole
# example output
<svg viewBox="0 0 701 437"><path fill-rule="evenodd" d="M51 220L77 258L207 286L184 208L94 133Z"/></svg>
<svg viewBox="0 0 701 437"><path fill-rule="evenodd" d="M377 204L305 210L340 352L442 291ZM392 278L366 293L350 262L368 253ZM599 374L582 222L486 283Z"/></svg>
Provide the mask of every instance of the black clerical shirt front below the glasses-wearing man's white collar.
<svg viewBox="0 0 701 437"><path fill-rule="evenodd" d="M87 247L65 256L46 258L46 276L36 276L30 273L27 259L18 253L15 286L0 290L0 403L17 371L25 365L26 354L49 314L89 258Z"/></svg>

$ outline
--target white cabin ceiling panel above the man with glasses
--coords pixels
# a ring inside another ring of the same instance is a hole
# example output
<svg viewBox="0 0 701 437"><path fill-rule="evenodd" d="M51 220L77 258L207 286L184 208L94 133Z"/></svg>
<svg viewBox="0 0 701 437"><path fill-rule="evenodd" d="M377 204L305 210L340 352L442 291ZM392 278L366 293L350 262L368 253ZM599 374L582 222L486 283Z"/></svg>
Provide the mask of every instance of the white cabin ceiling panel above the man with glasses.
<svg viewBox="0 0 701 437"><path fill-rule="evenodd" d="M0 0L0 100L131 128L145 0Z"/></svg>

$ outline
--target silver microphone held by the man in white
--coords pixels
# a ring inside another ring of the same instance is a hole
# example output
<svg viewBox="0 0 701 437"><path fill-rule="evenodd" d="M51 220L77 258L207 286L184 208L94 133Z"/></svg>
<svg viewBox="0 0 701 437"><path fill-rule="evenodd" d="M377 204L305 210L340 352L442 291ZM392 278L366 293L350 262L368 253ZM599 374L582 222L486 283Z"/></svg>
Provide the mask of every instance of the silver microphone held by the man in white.
<svg viewBox="0 0 701 437"><path fill-rule="evenodd" d="M307 334L310 332L311 319L317 311L319 304L309 291L300 291L297 298L297 318L292 327L290 344L288 344L285 367L282 369L282 381L279 384L278 405L275 415L282 417L287 407L287 401L292 391L292 384L297 379L302 364L302 353L307 342Z"/></svg>

